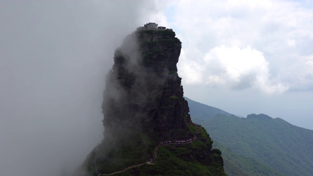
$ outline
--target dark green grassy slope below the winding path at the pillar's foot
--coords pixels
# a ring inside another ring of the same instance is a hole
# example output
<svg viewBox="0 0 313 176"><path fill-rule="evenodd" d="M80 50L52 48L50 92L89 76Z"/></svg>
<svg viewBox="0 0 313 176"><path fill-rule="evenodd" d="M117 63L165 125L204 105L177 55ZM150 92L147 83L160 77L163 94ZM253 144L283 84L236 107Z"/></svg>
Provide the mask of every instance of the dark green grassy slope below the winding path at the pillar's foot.
<svg viewBox="0 0 313 176"><path fill-rule="evenodd" d="M159 147L155 164L144 164L114 176L132 176L132 173L138 173L138 176L226 176L219 154L213 152L211 166L203 165L194 157L210 149L211 144L209 135L202 128L197 139L190 144Z"/></svg>

